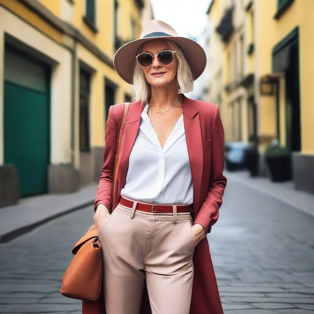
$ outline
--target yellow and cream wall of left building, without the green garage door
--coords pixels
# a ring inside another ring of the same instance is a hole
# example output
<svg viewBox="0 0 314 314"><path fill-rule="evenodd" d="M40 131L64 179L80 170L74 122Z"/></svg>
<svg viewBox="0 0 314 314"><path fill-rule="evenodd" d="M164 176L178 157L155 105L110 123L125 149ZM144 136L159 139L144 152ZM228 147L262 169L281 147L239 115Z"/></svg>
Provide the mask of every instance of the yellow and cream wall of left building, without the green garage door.
<svg viewBox="0 0 314 314"><path fill-rule="evenodd" d="M4 65L5 42L51 69L48 192L71 192L82 184L99 180L108 108L124 102L131 90L131 85L113 67L116 38L120 46L138 38L145 23L153 18L150 1L143 1L142 6L139 3L96 0L96 22L91 25L84 19L86 0L0 0L0 69ZM80 144L80 70L90 75L88 150L82 150ZM0 125L3 125L3 79L0 71ZM108 84L113 98L106 97ZM111 99L110 103L106 99ZM7 167L3 149L4 134L0 127L0 171ZM12 184L17 190L18 178L14 176L16 173L12 172Z"/></svg>

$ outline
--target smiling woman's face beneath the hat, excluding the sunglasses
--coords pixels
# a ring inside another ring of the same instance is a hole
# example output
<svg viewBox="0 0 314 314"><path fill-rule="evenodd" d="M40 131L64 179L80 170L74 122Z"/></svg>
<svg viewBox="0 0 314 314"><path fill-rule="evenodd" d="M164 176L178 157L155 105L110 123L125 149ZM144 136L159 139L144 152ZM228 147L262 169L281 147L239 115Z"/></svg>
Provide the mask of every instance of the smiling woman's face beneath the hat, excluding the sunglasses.
<svg viewBox="0 0 314 314"><path fill-rule="evenodd" d="M165 39L153 39L144 43L140 53L149 52L153 56L162 50L172 50ZM163 86L170 83L176 76L178 61L176 54L170 65L163 65L159 62L158 57L155 56L152 65L149 68L142 68L147 82L153 86ZM156 72L163 72L162 75L153 75Z"/></svg>

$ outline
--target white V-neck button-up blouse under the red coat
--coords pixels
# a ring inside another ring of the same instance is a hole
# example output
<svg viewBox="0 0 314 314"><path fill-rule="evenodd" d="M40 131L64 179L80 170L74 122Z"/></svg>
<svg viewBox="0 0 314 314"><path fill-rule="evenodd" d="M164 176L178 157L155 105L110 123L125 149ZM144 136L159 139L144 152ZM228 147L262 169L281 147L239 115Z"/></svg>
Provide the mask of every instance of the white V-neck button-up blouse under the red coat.
<svg viewBox="0 0 314 314"><path fill-rule="evenodd" d="M161 148L147 111L148 103L141 114L121 195L149 203L190 205L193 184L183 113Z"/></svg>

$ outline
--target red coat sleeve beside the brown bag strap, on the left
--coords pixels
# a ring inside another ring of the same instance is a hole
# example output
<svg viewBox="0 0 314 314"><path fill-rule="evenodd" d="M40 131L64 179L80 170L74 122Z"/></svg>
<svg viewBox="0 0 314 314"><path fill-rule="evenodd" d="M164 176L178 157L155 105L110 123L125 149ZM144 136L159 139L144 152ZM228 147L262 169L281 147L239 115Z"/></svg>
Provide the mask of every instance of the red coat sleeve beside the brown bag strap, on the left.
<svg viewBox="0 0 314 314"><path fill-rule="evenodd" d="M110 209L117 133L116 121L112 113L111 105L109 107L108 118L106 122L104 164L102 166L100 179L98 181L94 211L96 211L98 204L104 204L107 209Z"/></svg>

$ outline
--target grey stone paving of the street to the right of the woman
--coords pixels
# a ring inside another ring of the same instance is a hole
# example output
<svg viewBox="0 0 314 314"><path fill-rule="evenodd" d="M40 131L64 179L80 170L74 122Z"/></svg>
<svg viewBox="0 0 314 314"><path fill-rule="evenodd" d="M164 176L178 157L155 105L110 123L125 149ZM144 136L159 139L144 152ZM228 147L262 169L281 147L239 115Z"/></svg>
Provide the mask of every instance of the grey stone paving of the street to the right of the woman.
<svg viewBox="0 0 314 314"><path fill-rule="evenodd" d="M314 313L314 217L230 179L208 235L225 314Z"/></svg>

